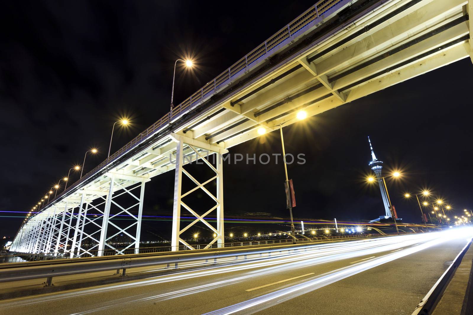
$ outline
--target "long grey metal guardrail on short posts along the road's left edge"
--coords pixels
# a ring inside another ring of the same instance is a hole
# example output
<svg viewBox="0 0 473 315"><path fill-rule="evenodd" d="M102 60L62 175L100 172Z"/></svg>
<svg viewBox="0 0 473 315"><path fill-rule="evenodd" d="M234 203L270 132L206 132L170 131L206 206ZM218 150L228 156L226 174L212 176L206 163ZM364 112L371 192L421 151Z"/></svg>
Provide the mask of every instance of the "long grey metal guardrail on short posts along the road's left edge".
<svg viewBox="0 0 473 315"><path fill-rule="evenodd" d="M144 257L132 257L132 258L117 258L100 261L87 261L78 263L68 264L53 264L53 265L40 265L40 266L27 266L17 268L5 268L0 269L0 282L10 281L21 281L21 280L32 280L47 278L47 285L51 285L52 278L58 276L89 273L89 272L101 272L101 271L112 271L123 269L123 275L126 274L126 269L147 267L153 265L170 265L175 264L177 268L178 264L195 261L213 261L217 263L218 259L228 258L235 256L243 257L246 259L246 255L251 254L262 254L268 253L271 255L272 251L277 248L279 252L298 250L302 244L290 244L285 246L270 246L264 249L260 247L256 248L238 248L231 251L228 250L216 250L216 251L192 251L185 254L174 254L174 255L158 255L158 256L144 256Z"/></svg>

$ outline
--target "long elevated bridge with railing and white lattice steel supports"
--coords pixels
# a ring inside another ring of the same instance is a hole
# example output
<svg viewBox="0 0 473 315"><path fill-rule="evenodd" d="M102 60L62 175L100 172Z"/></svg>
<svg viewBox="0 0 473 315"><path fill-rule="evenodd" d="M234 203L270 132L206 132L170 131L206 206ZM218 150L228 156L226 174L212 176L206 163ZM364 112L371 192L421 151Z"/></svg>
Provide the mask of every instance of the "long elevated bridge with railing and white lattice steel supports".
<svg viewBox="0 0 473 315"><path fill-rule="evenodd" d="M472 3L317 1L41 209L32 209L11 250L70 258L130 248L138 253L145 184L171 170L172 249L194 249L185 239L197 222L214 232L207 248L223 247L223 154L296 122L300 111L314 116L457 60L473 60ZM199 181L184 168L196 160L212 172L209 179ZM195 184L189 191L182 190L185 178ZM206 187L210 183L214 190ZM214 201L203 213L185 203L197 191ZM181 224L183 213L194 221ZM122 215L132 223L115 220ZM212 215L216 223L206 219ZM127 248L111 241L118 234L132 239Z"/></svg>

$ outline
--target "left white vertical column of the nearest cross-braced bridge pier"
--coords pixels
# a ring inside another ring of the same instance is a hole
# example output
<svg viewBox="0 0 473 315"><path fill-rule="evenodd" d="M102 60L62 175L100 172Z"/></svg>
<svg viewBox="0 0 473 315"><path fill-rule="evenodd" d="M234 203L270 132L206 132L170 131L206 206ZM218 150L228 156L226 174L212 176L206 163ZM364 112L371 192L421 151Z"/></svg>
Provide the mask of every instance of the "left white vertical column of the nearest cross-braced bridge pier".
<svg viewBox="0 0 473 315"><path fill-rule="evenodd" d="M176 145L176 168L174 176L174 206L173 206L173 230L171 237L171 250L179 250L179 230L181 226L181 184L182 184L182 141Z"/></svg>

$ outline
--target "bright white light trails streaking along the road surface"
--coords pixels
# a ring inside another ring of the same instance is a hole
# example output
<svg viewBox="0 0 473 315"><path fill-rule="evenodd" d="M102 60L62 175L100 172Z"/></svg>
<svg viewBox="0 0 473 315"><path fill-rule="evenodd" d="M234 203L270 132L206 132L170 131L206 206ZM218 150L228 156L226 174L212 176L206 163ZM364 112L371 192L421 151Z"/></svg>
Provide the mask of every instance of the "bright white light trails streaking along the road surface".
<svg viewBox="0 0 473 315"><path fill-rule="evenodd" d="M150 300L158 302L172 298L179 298L211 289L222 288L223 286L228 286L242 281L252 281L256 277L260 277L263 275L271 275L277 272L294 271L300 268L315 266L318 264L332 263L360 256L372 256L373 254L379 255L379 253L381 252L388 252L396 249L398 250L397 252L395 252L395 254L384 255L376 259L368 260L367 262L350 265L349 267L329 272L326 275L315 275L315 279L311 279L309 281L304 282L308 283L307 285L297 285L294 286L293 291L290 291L289 293L281 293L289 294L289 296L291 297L296 297L300 294L303 294L300 292L305 292L305 290L310 291L313 289L317 289L318 287L327 285L334 281L338 281L352 274L362 272L376 265L384 264L385 262L397 259L404 255L409 255L413 252L446 241L449 238L446 237L447 234L445 233L446 232L435 232L385 238L374 238L368 240L358 240L342 243L316 244L301 247L291 247L289 251L288 248L276 248L271 250L262 250L253 255L247 255L246 259L241 254L239 255L238 259L235 259L237 253L234 252L232 254L229 254L227 257L224 257L223 259L219 258L219 264L209 265L208 262L205 263L205 261L201 261L191 264L179 265L180 267L198 268L194 270L183 270L175 272L173 274L160 275L144 280L121 282L111 285L97 286L88 289L76 289L61 293L48 294L35 298L23 298L10 301L8 303L0 303L0 305L3 309L8 309L10 307L15 306L35 307L34 304L37 303L51 302L53 300L61 300L65 298L71 298L73 296L100 294L106 291L120 289L125 289L127 290L127 292L131 292L132 288L155 285L159 283L174 282L175 285L178 286L179 284L177 284L178 282L176 281L181 281L181 288L167 289L164 290L164 292L157 292L156 289L150 289L147 293L126 296L123 298L115 298L107 302L99 302L99 299L91 298L91 301L97 301L93 302L96 303L96 305L90 305L87 310L78 310L78 312L76 313L88 314L108 308L117 307L120 305L128 305L131 303L139 303ZM464 236L462 236L462 238L463 237ZM407 249L400 251L403 248ZM413 250L412 248L415 249ZM386 257L388 257L389 259ZM213 257L209 256L209 259L213 259ZM347 261L347 264L348 263L349 262ZM238 272L238 274L231 274L231 272ZM219 279L213 281L205 280L206 276L219 276ZM202 277L204 278L204 280L200 283L197 283L195 285L187 284L187 281L191 279L196 279L197 281L198 278ZM319 280L315 281L317 279ZM252 288L251 284L248 287ZM253 308L256 306L260 307L263 305L265 307L269 307L268 305L271 305L271 303L273 303L275 299L278 301L281 300L278 294L274 294L272 296L264 295L262 297L257 298L257 300L251 299L240 304L236 304L234 306L228 306L231 309L221 309L216 311L221 311L221 313L215 314L230 314L233 312L233 309L236 309L236 311L238 312L243 310L251 310L251 312L253 312Z"/></svg>

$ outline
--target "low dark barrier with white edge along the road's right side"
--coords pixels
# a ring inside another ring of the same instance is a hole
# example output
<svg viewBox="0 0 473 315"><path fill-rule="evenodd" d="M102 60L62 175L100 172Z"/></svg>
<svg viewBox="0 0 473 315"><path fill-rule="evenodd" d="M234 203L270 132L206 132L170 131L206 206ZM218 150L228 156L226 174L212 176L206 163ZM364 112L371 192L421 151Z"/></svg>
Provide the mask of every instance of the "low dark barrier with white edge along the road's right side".
<svg viewBox="0 0 473 315"><path fill-rule="evenodd" d="M472 240L466 244L461 252L456 255L452 264L447 268L447 270L442 274L438 281L434 284L432 289L429 290L427 295L420 301L419 305L416 307L412 315L429 315L432 314L435 306L437 306L438 301L440 300L444 290L447 288L448 283L455 274L456 269L462 262L463 256L466 254L468 248L470 247Z"/></svg>

